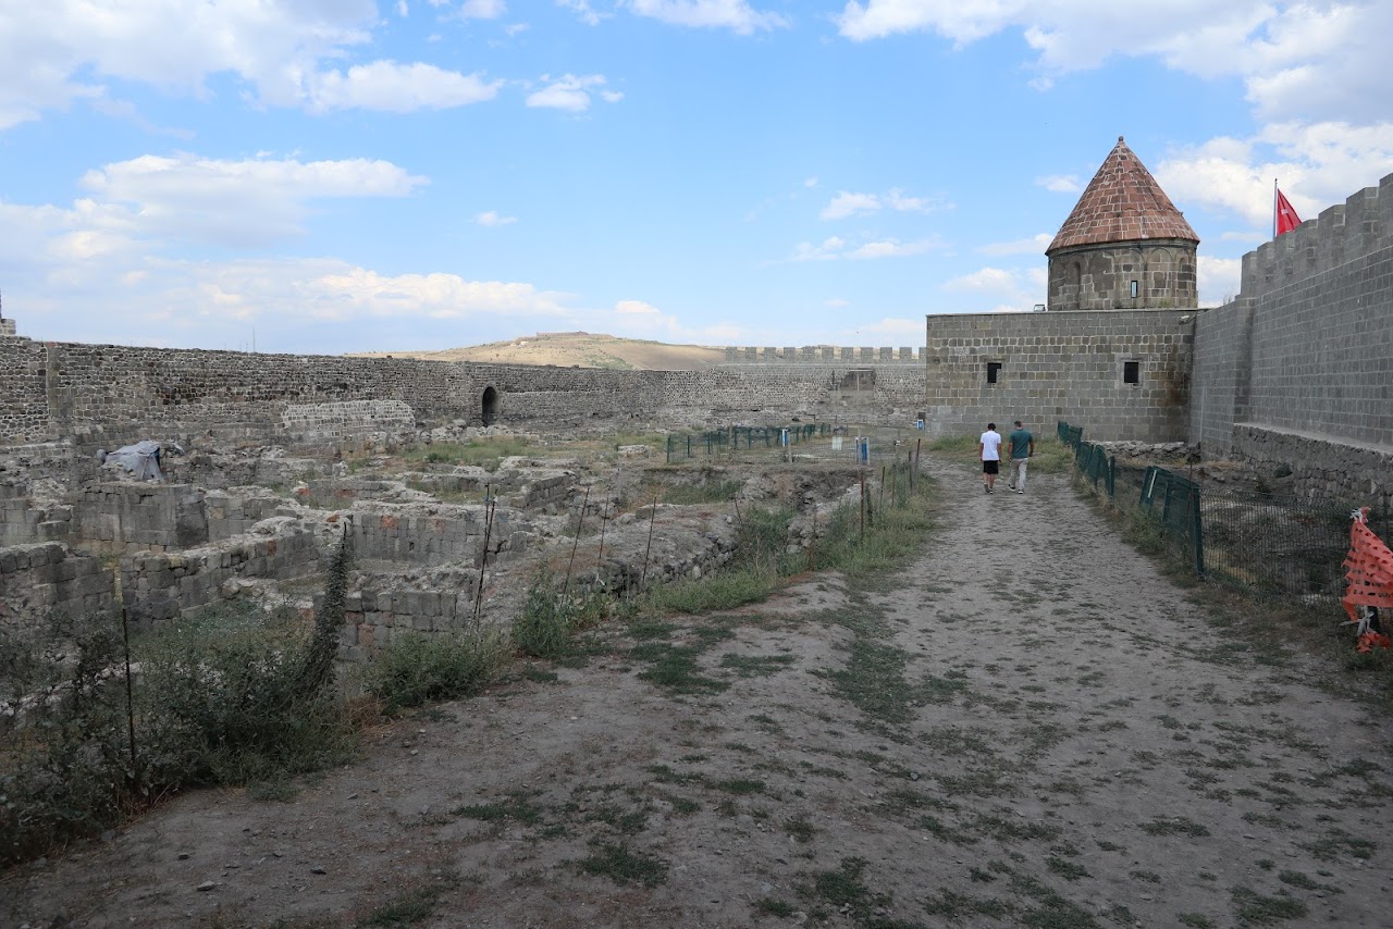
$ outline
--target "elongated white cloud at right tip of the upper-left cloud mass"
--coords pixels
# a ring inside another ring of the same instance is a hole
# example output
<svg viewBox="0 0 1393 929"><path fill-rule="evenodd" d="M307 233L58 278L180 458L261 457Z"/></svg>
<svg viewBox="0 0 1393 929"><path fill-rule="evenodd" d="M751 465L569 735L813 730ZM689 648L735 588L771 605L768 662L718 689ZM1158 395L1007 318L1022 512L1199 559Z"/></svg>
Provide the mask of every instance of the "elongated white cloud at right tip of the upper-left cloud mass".
<svg viewBox="0 0 1393 929"><path fill-rule="evenodd" d="M481 103L497 96L501 81L483 81L478 74L444 71L433 64L373 61L341 71L313 75L309 99L316 110L384 110L411 113L444 110Z"/></svg>

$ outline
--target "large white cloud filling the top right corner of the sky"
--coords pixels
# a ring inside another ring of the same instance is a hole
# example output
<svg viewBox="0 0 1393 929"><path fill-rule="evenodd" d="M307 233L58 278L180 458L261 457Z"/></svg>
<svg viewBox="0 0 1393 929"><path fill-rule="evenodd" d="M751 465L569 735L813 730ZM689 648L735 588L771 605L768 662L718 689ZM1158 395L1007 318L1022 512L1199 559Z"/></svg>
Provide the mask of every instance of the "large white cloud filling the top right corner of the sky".
<svg viewBox="0 0 1393 929"><path fill-rule="evenodd" d="M854 42L931 32L961 47L1020 31L1038 86L1113 56L1153 57L1202 78L1237 77L1265 118L1369 121L1386 113L1385 0L853 0L836 17Z"/></svg>

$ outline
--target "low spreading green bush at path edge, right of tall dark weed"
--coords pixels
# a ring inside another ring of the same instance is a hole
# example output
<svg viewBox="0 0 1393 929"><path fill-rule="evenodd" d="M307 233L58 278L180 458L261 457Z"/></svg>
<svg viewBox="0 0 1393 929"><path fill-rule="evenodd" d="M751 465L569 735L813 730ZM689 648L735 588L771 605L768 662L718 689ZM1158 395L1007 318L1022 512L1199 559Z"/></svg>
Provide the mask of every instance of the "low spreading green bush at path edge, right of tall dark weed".
<svg viewBox="0 0 1393 929"><path fill-rule="evenodd" d="M387 713L472 696L497 677L507 656L507 637L497 630L456 637L412 632L378 653L366 671L366 689Z"/></svg>

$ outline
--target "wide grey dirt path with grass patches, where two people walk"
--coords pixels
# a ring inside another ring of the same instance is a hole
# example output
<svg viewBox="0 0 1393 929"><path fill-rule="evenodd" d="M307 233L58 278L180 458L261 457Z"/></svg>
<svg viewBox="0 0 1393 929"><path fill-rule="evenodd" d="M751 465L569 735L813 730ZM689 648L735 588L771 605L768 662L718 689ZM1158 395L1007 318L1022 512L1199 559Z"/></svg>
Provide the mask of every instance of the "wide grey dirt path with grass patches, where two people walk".
<svg viewBox="0 0 1393 929"><path fill-rule="evenodd" d="M876 589L648 623L0 883L32 926L1387 926L1390 731L1064 478Z"/></svg>

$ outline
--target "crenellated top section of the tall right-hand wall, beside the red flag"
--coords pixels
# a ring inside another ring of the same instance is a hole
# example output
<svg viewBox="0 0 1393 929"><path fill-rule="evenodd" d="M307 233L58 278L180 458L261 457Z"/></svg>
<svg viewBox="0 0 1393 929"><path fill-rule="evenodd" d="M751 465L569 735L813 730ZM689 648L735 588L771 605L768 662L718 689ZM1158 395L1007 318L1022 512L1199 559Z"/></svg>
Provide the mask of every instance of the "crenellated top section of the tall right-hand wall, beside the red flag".
<svg viewBox="0 0 1393 929"><path fill-rule="evenodd" d="M1243 297L1340 267L1393 245L1393 174L1243 256Z"/></svg>

